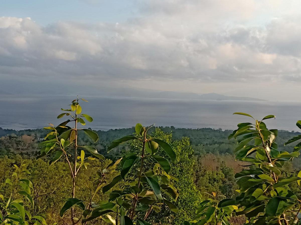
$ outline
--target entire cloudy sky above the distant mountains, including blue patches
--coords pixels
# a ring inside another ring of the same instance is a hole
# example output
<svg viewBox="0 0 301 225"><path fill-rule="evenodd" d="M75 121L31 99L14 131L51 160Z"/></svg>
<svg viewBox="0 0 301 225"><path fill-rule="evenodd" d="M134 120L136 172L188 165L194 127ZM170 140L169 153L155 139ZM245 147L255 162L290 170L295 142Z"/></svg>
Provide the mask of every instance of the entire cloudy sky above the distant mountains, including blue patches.
<svg viewBox="0 0 301 225"><path fill-rule="evenodd" d="M300 12L299 0L1 1L0 94L131 87L299 101Z"/></svg>

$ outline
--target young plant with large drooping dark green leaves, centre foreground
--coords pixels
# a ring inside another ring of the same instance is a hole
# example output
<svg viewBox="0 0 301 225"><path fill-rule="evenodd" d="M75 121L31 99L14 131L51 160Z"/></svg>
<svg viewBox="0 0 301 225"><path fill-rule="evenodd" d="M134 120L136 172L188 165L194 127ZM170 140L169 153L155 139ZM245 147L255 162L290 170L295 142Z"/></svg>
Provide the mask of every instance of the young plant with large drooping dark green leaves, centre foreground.
<svg viewBox="0 0 301 225"><path fill-rule="evenodd" d="M90 221L110 212L115 213L114 224L121 225L140 224L147 225L147 217L154 211L160 211L160 205L165 203L173 212L178 209L172 203L178 197L178 191L169 179L171 170L169 161L156 153L161 147L172 161L176 155L172 147L163 140L151 137L141 124L135 126L135 134L113 141L108 147L111 149L132 140L136 143L136 152L128 153L120 160L120 175L116 176L110 184L102 188L103 193L109 194L109 202L95 208L91 216L83 221ZM153 169L146 170L146 164L153 163ZM109 191L118 182L121 190ZM173 199L168 200L167 198ZM111 217L112 219L112 217Z"/></svg>

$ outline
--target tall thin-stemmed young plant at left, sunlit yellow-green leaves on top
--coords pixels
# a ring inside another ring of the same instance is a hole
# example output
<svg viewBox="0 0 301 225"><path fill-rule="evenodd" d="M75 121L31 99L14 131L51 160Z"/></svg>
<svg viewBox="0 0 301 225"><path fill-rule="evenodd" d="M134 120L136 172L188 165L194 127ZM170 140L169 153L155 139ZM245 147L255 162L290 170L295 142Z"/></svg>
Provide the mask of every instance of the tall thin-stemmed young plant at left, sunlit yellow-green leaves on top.
<svg viewBox="0 0 301 225"><path fill-rule="evenodd" d="M61 209L60 215L61 217L63 217L66 211L71 210L70 219L72 224L76 224L80 221L80 219L77 219L77 217L75 216L74 207L77 206L80 209L82 209L82 211L84 211L85 209L89 209L92 204L92 199L91 199L91 201L88 203L88 206L85 206L83 200L76 198L76 193L75 193L77 174L79 173L82 167L85 167L87 169L87 166L89 165L88 160L94 159L91 157L85 157L85 151L92 154L93 156L95 156L101 161L105 159L104 156L99 154L94 147L86 146L86 145L85 146L78 145L78 132L85 133L88 137L90 137L94 141L94 143L96 143L99 139L98 134L96 134L94 131L90 129L78 128L78 123L80 123L81 125L85 125L86 124L85 120L88 122L93 121L91 116L82 113L82 107L79 105L80 100L88 102L83 98L77 97L70 104L70 109L61 109L62 111L64 111L64 113L61 113L60 115L57 116L58 119L64 116L69 116L70 119L66 120L65 122L62 122L57 127L50 124L51 126L44 128L50 130L50 132L46 135L45 141L39 144L39 146L42 149L40 151L40 155L37 157L37 158L41 158L41 157L53 155L53 157L49 162L50 165L54 164L62 157L67 161L73 179L72 191L71 191L72 197L67 200L67 202ZM73 128L67 125L70 122L74 123ZM102 182L103 180L101 179L100 183L102 184ZM81 217L82 216L80 216L79 218Z"/></svg>

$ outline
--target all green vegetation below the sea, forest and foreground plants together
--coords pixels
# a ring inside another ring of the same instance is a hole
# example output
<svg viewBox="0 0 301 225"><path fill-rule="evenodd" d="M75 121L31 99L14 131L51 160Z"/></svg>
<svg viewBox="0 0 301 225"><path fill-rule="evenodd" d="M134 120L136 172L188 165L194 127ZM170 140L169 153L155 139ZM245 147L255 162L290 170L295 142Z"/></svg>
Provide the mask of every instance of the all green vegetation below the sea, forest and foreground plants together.
<svg viewBox="0 0 301 225"><path fill-rule="evenodd" d="M57 127L0 128L2 223L299 224L290 219L301 196L299 147L284 143L300 133L268 130L263 122L254 127L243 123L236 131L141 124L110 131L78 129L78 122L93 121L82 114L80 100L62 109L58 118L71 118ZM228 139L240 135L239 143ZM260 152L266 146L275 149L273 161ZM284 187L273 187L290 177L293 181ZM246 189L245 182L257 183ZM281 188L289 196L281 195ZM250 199L259 189L263 199ZM278 204L275 213L270 201L273 207Z"/></svg>

